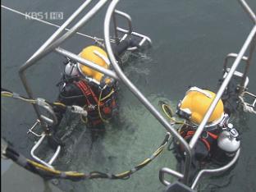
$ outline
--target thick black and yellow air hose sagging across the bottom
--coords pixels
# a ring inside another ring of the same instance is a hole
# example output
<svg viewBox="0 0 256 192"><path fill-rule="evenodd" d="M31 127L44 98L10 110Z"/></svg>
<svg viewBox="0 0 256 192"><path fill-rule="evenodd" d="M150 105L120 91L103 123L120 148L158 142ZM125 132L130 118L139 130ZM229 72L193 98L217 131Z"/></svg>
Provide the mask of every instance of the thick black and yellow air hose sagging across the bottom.
<svg viewBox="0 0 256 192"><path fill-rule="evenodd" d="M167 145L169 139L171 138L170 133L167 133L165 139L163 139L162 144L158 147L158 149L151 155L151 157L146 158L143 162L140 162L137 166L131 168L129 171L122 171L118 174L112 173L103 173L99 171L91 171L89 173L78 172L78 171L59 171L54 168L46 167L39 162L34 162L28 158L25 158L20 153L17 153L15 149L12 149L8 144L1 139L1 155L4 158L10 158L13 162L16 162L21 167L24 167L28 171L32 171L39 176L43 176L48 179L67 179L71 181L82 181L86 179L128 179L130 175L135 173L135 171L139 171L143 167L152 162L154 158L158 157L162 150Z"/></svg>

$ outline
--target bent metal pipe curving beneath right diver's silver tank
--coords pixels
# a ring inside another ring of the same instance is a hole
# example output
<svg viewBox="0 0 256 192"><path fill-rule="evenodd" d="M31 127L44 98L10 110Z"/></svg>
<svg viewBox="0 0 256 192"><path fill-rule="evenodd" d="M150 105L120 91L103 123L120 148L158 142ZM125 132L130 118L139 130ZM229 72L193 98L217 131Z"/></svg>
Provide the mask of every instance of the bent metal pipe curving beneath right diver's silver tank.
<svg viewBox="0 0 256 192"><path fill-rule="evenodd" d="M235 164L235 162L237 161L237 159L239 158L239 155L240 155L240 149L238 149L238 151L235 153L235 157L231 160L231 162L227 163L225 166L217 168L217 169L203 169L203 170L199 171L199 174L196 176L193 184L191 185L191 189L194 190L194 187L199 182L199 178L201 176L203 176L204 173L221 173L222 171L226 171L227 169L232 167Z"/></svg>

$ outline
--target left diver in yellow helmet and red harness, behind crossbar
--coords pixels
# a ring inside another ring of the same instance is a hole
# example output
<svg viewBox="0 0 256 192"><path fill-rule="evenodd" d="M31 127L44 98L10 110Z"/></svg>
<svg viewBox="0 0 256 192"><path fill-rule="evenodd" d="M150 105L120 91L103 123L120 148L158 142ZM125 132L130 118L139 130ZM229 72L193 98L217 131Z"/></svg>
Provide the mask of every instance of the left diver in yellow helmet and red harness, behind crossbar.
<svg viewBox="0 0 256 192"><path fill-rule="evenodd" d="M117 61L120 61L121 55L126 52L127 48L131 47L139 47L134 39L123 40L112 48ZM84 48L79 55L98 66L112 69L107 53L103 48L91 45ZM62 74L62 80L57 84L60 89L57 103L64 103L66 106L77 105L84 107L87 111L87 116L81 118L86 123L86 126L90 128L102 127L105 122L117 116L117 80L69 58L64 64L66 66ZM62 121L66 109L53 107L53 111L57 116L57 125L53 127L52 139L57 141L57 138L54 138L54 134L57 131L57 126Z"/></svg>

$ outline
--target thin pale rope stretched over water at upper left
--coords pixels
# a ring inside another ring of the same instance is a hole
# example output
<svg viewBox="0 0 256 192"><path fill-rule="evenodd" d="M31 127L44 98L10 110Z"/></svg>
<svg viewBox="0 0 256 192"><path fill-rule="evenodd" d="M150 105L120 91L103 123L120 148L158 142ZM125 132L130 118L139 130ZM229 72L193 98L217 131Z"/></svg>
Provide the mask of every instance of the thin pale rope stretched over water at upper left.
<svg viewBox="0 0 256 192"><path fill-rule="evenodd" d="M4 8L4 9L6 9L6 10L8 10L8 11L12 11L12 12L18 14L18 15L25 16L25 18L30 18L31 20L39 21L39 22L41 22L41 23L43 23L43 24L45 24L45 25L55 26L55 27L57 27L57 28L60 28L60 27L61 27L61 25L56 25L56 24L53 24L53 23L51 23L51 22L41 20L41 19L39 19L39 18L37 18L37 17L30 16L30 15L28 15L28 14L25 14L25 13L21 12L21 11L17 11L17 10L15 10L15 9L11 9L10 7L6 7L6 6L3 6L3 5L1 5L1 7ZM65 30L68 31L68 30L70 30L70 29L69 29L69 28L66 28ZM80 32L76 32L76 34L79 34L79 35L84 36L84 37L89 38L89 39L93 39L95 42L97 42L97 41L104 41L104 39L99 39L99 38L97 38L97 37L93 37L93 36L90 36L90 35L88 35L88 34L82 34L82 33L80 33ZM114 39L111 39L111 42L114 43L115 40L114 40Z"/></svg>

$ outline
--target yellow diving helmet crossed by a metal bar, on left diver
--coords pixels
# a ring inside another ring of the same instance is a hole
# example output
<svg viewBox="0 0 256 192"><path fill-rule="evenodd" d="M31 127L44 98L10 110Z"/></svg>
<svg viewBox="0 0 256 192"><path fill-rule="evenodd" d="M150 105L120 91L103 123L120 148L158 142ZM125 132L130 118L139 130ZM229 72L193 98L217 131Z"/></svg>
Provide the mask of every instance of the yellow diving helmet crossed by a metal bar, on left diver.
<svg viewBox="0 0 256 192"><path fill-rule="evenodd" d="M79 55L80 57L88 60L89 62L94 62L94 64L98 66L103 66L106 69L109 68L110 62L107 58L107 53L102 48L91 45L89 47L84 48ZM88 66L84 66L79 63L78 69L81 74L85 75L86 78L93 80L98 85L101 83L101 80L103 80L104 74L95 71L89 68ZM106 79L106 81L107 80L109 79Z"/></svg>

